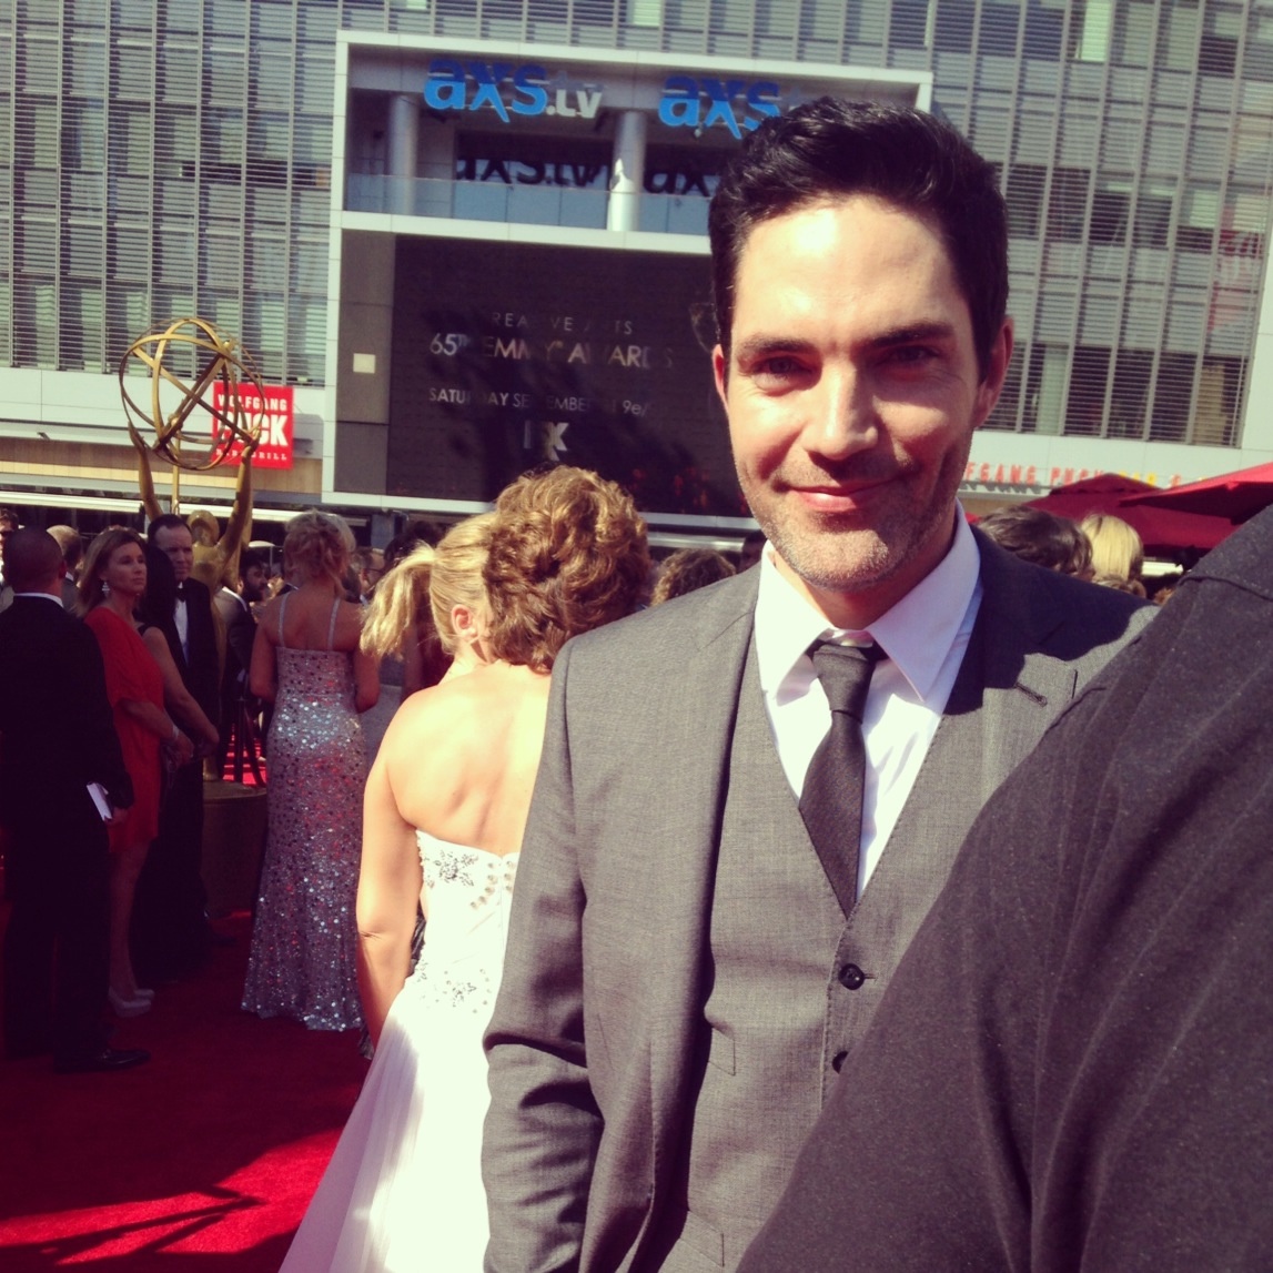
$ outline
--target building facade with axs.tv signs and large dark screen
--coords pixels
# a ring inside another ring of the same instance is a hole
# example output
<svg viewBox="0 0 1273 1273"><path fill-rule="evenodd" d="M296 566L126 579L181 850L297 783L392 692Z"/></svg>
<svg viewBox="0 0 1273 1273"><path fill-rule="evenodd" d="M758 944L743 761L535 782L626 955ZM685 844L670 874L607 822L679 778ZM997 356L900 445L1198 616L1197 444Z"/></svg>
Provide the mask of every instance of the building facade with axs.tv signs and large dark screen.
<svg viewBox="0 0 1273 1273"><path fill-rule="evenodd" d="M0 0L5 502L135 498L121 355L197 314L292 388L260 507L462 512L560 456L741 527L705 201L820 92L998 167L1017 348L973 507L1273 457L1273 3Z"/></svg>

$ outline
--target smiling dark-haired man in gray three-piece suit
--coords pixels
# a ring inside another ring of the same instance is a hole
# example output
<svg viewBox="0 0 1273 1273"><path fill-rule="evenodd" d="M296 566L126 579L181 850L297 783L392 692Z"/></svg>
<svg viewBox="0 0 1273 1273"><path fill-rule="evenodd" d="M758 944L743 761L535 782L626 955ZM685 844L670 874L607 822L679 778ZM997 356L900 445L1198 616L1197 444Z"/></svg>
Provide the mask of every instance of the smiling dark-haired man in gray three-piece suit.
<svg viewBox="0 0 1273 1273"><path fill-rule="evenodd" d="M978 810L1146 615L960 513L1012 326L1003 202L952 129L766 121L710 234L770 547L558 661L486 1036L495 1273L735 1268ZM822 642L882 652L839 875L799 803Z"/></svg>

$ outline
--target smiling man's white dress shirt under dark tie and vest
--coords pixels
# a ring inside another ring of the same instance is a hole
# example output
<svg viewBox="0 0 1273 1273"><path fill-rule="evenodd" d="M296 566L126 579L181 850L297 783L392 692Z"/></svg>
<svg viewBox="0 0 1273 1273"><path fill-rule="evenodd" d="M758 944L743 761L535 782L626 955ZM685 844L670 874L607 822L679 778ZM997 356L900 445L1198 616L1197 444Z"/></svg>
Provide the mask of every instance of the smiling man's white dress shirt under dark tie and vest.
<svg viewBox="0 0 1273 1273"><path fill-rule="evenodd" d="M889 656L876 665L862 733L867 751L858 896L883 854L910 794L946 700L955 686L981 605L981 561L957 509L955 542L938 565L869 629L847 631L778 572L766 545L759 565L756 661L778 759L796 798L813 752L831 726L826 694L808 648L815 640L875 642Z"/></svg>

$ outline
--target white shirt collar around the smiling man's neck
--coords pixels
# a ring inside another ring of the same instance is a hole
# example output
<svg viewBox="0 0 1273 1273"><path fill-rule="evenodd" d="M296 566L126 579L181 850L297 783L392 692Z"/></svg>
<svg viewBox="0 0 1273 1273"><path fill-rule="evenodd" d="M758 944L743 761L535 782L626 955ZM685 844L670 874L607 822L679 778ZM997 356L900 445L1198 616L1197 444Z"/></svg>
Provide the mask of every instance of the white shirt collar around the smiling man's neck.
<svg viewBox="0 0 1273 1273"><path fill-rule="evenodd" d="M978 592L981 554L956 504L955 541L941 561L869 629L834 628L826 616L785 579L765 545L756 597L756 661L760 686L777 694L784 677L820 638L875 640L910 682L927 698L970 614Z"/></svg>

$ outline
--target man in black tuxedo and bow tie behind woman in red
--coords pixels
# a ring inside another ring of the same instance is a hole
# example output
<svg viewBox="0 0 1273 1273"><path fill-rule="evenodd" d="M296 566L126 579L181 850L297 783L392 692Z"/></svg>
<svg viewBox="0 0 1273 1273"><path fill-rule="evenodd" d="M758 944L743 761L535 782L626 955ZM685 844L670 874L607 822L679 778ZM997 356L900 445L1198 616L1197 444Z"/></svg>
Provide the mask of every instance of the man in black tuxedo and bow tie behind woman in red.
<svg viewBox="0 0 1273 1273"><path fill-rule="evenodd" d="M168 642L186 689L209 721L220 714L216 629L207 588L191 574L195 541L176 513L157 517L149 542L172 563L177 577L176 639ZM192 971L207 951L202 880L204 775L183 765L159 810L159 838L150 848L132 910L132 957L144 980L163 981Z"/></svg>

